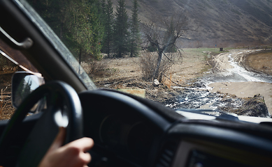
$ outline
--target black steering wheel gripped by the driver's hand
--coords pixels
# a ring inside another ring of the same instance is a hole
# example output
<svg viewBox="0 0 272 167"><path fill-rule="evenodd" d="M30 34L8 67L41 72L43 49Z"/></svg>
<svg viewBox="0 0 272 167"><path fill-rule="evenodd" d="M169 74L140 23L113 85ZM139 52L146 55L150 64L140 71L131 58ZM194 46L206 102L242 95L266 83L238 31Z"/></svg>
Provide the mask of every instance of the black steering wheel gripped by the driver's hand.
<svg viewBox="0 0 272 167"><path fill-rule="evenodd" d="M17 166L38 166L59 132L59 127L66 127L65 143L83 137L82 109L76 90L62 81L52 81L34 90L15 111L0 138L0 159L11 145L9 141L12 134L20 128L22 120L36 102L44 97L46 109L25 141Z"/></svg>

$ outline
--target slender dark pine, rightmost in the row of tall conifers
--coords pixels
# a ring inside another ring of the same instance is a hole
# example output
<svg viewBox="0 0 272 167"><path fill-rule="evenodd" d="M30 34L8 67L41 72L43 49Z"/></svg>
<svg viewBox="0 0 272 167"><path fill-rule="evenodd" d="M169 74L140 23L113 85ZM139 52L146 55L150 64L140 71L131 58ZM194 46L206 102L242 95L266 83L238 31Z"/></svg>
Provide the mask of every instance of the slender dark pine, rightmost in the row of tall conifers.
<svg viewBox="0 0 272 167"><path fill-rule="evenodd" d="M138 56L138 51L140 50L139 48L139 43L141 40L140 37L140 31L139 31L139 22L140 20L138 19L138 1L134 0L133 1L133 6L132 6L132 18L131 18L131 35L130 35L130 56Z"/></svg>

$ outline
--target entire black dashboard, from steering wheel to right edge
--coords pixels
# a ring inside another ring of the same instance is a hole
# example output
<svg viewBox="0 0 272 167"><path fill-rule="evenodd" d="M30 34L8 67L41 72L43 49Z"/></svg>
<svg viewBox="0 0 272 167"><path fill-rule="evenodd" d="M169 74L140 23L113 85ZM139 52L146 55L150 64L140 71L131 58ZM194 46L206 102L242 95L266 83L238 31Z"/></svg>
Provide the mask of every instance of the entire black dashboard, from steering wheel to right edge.
<svg viewBox="0 0 272 167"><path fill-rule="evenodd" d="M92 166L272 166L269 125L188 119L109 90L79 97Z"/></svg>

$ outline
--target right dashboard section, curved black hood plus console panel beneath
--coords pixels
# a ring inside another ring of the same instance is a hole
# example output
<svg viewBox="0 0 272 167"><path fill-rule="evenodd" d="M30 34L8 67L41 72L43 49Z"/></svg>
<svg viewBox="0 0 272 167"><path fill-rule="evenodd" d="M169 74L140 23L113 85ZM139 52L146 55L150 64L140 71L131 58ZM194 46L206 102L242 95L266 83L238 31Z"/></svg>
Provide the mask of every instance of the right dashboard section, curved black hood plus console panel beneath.
<svg viewBox="0 0 272 167"><path fill-rule="evenodd" d="M271 140L220 126L185 123L169 131L178 138L171 166L272 166Z"/></svg>

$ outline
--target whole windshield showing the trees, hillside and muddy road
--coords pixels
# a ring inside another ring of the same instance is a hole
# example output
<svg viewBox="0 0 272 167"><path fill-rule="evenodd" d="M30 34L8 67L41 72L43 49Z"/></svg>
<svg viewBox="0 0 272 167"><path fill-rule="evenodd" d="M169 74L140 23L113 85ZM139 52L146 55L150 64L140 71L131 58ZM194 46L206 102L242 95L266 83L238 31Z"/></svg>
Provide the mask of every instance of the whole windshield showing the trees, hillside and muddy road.
<svg viewBox="0 0 272 167"><path fill-rule="evenodd" d="M28 3L90 89L133 93L172 109L271 118L270 1Z"/></svg>

